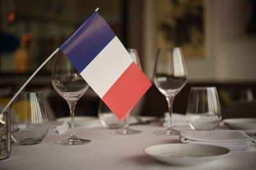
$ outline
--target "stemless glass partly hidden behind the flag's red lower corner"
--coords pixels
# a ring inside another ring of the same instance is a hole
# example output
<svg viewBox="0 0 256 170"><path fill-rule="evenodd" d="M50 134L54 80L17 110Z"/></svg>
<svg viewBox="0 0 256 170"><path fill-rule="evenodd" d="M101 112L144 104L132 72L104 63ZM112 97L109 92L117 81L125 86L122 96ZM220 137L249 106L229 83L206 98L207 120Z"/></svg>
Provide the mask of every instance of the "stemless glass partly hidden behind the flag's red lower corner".
<svg viewBox="0 0 256 170"><path fill-rule="evenodd" d="M124 127L124 122L121 122L103 101L99 104L98 117L103 127L108 129Z"/></svg>

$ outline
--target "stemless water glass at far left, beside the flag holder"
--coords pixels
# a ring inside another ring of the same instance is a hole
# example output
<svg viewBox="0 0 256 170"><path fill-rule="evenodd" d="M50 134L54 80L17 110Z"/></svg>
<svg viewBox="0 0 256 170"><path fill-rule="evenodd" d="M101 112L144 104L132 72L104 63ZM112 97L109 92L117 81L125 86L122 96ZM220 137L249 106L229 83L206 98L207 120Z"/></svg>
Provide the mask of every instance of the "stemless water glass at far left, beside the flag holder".
<svg viewBox="0 0 256 170"><path fill-rule="evenodd" d="M10 108L11 136L19 145L40 143L49 129L49 120L42 92L24 92Z"/></svg>

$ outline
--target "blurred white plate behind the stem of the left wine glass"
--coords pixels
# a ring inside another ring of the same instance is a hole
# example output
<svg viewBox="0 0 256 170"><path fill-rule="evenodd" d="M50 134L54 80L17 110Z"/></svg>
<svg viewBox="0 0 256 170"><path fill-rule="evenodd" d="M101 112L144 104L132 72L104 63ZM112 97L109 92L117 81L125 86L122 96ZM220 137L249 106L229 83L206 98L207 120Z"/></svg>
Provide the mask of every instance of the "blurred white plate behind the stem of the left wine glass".
<svg viewBox="0 0 256 170"><path fill-rule="evenodd" d="M67 121L68 124L71 122L71 117L61 117L57 118L57 121ZM99 119L97 117L82 117L82 116L75 116L75 126L84 126L88 124L98 124Z"/></svg>

